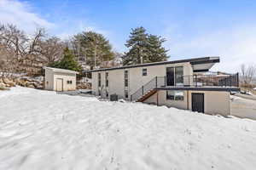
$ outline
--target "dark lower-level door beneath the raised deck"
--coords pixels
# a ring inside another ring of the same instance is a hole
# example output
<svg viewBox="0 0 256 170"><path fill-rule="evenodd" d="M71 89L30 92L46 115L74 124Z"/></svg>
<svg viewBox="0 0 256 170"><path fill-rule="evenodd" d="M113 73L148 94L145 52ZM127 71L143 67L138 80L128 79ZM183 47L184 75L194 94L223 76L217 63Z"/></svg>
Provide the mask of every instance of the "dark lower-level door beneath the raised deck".
<svg viewBox="0 0 256 170"><path fill-rule="evenodd" d="M192 111L204 113L204 94L193 94L192 93Z"/></svg>

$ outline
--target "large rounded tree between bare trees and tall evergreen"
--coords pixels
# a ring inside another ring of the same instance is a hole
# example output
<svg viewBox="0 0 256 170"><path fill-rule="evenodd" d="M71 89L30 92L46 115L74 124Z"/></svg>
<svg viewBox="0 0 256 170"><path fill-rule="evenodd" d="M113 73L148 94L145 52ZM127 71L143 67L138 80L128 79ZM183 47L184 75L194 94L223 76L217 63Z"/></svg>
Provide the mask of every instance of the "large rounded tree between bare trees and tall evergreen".
<svg viewBox="0 0 256 170"><path fill-rule="evenodd" d="M73 37L74 54L91 67L103 66L113 59L112 46L102 34L84 31Z"/></svg>

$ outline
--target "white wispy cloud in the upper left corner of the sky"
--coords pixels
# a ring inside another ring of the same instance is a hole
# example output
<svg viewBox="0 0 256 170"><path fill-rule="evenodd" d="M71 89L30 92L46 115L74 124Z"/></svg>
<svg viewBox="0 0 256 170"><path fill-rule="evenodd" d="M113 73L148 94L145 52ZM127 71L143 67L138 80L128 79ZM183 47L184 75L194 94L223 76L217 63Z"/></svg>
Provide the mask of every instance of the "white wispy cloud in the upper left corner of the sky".
<svg viewBox="0 0 256 170"><path fill-rule="evenodd" d="M52 28L55 25L44 20L31 10L28 3L20 3L16 0L0 0L0 23L14 24L20 29L32 32L37 27Z"/></svg>

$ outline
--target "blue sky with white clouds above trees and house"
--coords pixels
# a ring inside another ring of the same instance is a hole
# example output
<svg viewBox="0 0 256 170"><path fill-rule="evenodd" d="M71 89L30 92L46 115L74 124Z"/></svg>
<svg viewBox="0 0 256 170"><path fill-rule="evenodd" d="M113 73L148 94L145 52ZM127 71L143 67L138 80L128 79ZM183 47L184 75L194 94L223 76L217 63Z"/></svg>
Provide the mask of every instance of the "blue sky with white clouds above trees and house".
<svg viewBox="0 0 256 170"><path fill-rule="evenodd" d="M212 71L233 73L256 64L255 8L254 0L0 0L0 23L30 34L45 27L61 39L96 31L118 52L143 26L166 38L169 60L219 56Z"/></svg>

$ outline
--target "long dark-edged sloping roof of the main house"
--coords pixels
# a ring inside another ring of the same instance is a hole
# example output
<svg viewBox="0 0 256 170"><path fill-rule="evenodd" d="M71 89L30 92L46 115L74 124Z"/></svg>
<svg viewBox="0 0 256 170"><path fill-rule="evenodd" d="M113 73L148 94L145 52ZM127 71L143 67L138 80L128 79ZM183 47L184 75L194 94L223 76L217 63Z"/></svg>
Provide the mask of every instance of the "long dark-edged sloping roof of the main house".
<svg viewBox="0 0 256 170"><path fill-rule="evenodd" d="M186 62L189 62L191 65L193 65L194 71L197 71L197 72L209 71L209 69L212 68L212 65L219 62L219 57L201 57L201 58L194 58L194 59L179 59L179 60L172 60L172 61L161 61L161 62L141 64L141 65L125 65L125 66L119 66L119 67L95 69L95 70L84 71L84 72L113 71L113 70L128 69L128 68L135 68L135 67L146 67L146 66L154 66L154 65L169 65L169 64L176 64L176 63L186 63ZM198 65L204 65L204 66L198 66Z"/></svg>

